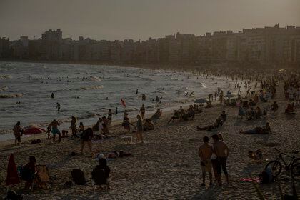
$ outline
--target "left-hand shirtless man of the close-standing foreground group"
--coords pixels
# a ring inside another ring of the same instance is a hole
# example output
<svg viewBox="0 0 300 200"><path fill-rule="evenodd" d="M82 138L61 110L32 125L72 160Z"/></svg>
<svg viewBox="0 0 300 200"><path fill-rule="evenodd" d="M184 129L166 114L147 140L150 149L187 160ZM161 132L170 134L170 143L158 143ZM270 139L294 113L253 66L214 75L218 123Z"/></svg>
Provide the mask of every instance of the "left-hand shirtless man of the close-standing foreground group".
<svg viewBox="0 0 300 200"><path fill-rule="evenodd" d="M204 136L204 144L199 147L199 157L201 159L201 171L202 171L202 186L205 186L206 171L209 172L209 185L212 184L211 174L211 155L213 153L212 146L209 145L209 137Z"/></svg>

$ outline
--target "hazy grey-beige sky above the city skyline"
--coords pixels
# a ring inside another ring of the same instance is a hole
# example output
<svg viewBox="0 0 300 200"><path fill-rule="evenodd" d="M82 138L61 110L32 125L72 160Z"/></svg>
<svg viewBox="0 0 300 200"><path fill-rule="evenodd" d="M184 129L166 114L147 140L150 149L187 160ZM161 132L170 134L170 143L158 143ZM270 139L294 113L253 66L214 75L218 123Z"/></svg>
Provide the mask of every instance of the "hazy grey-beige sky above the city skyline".
<svg viewBox="0 0 300 200"><path fill-rule="evenodd" d="M300 0L0 0L0 36L157 39L264 26L300 26Z"/></svg>

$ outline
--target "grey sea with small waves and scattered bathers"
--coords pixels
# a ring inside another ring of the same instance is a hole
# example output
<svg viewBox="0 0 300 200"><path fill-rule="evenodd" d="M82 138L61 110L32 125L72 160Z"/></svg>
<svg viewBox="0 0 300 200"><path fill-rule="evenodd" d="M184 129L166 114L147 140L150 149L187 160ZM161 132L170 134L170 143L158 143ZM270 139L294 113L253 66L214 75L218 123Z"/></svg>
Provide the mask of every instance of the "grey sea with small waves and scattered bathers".
<svg viewBox="0 0 300 200"><path fill-rule="evenodd" d="M109 109L114 112L117 108L119 114L114 114L113 120L121 119L121 99L126 102L129 116L134 116L142 104L146 113L157 108L176 109L206 98L218 86L226 92L231 82L224 77L206 78L196 71L0 62L0 133L6 135L0 140L13 138L11 129L16 121L21 121L21 126L46 128L57 119L61 129L66 129L71 116L76 116L78 122L91 125L99 116L107 116ZM142 101L141 94L146 95L146 101ZM156 96L161 102L153 101ZM59 113L56 103L61 105Z"/></svg>

